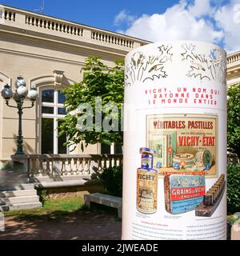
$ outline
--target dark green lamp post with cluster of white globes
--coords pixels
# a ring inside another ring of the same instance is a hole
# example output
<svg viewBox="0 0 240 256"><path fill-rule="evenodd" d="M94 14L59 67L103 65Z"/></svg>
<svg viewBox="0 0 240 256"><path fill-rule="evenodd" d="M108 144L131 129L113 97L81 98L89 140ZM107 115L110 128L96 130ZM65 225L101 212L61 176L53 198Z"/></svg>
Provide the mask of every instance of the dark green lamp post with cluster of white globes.
<svg viewBox="0 0 240 256"><path fill-rule="evenodd" d="M15 154L24 154L22 150L23 136L22 136L22 110L30 109L34 106L34 102L38 98L38 92L36 89L26 89L26 82L19 76L15 82L16 90L13 92L10 86L6 84L2 89L2 97L6 101L6 105L18 109L18 137L17 137L17 152ZM11 106L9 104L10 98L13 98L17 106ZM28 98L31 101L31 106L23 106L24 100Z"/></svg>

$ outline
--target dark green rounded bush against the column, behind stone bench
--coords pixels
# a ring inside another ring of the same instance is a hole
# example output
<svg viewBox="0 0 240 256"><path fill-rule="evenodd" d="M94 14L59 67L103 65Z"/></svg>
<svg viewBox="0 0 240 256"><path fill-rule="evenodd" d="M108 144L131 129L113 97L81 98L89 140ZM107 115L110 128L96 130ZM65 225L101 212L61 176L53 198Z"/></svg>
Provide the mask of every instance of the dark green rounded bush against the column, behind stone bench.
<svg viewBox="0 0 240 256"><path fill-rule="evenodd" d="M103 188L109 194L122 197L122 166L104 168L100 178Z"/></svg>

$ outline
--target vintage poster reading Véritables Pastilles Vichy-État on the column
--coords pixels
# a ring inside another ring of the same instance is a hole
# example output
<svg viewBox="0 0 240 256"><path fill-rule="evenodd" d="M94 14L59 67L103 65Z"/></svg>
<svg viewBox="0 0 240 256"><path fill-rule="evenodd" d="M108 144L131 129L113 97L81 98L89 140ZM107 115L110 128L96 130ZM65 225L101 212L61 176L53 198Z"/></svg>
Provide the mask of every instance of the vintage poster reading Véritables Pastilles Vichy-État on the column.
<svg viewBox="0 0 240 256"><path fill-rule="evenodd" d="M218 177L218 116L153 114L146 117L146 144L156 151L153 168L165 172L204 171Z"/></svg>

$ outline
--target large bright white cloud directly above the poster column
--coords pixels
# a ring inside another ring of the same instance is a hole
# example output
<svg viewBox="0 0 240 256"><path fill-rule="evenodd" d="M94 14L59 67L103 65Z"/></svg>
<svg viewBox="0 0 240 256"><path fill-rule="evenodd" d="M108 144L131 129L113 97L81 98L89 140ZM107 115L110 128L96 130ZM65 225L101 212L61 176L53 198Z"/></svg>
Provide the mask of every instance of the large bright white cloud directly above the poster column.
<svg viewBox="0 0 240 256"><path fill-rule="evenodd" d="M188 6L185 1L179 2L166 10L164 14L143 14L126 30L126 34L144 38L153 42L162 40L192 39L206 42L221 40L222 31L214 30L213 24L204 18L196 18L195 6ZM208 10L206 10L208 11ZM194 14L192 14L194 12Z"/></svg>

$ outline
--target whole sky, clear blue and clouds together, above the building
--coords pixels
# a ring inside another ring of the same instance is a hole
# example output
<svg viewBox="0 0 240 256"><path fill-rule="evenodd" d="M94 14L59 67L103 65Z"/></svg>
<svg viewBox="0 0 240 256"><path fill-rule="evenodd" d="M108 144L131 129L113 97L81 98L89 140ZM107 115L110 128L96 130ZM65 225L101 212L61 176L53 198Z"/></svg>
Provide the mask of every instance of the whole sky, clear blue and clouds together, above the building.
<svg viewBox="0 0 240 256"><path fill-rule="evenodd" d="M36 10L42 0L0 0ZM240 50L240 0L45 0L45 13L152 42L193 39Z"/></svg>

